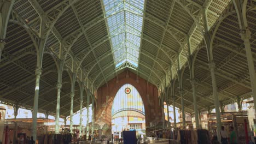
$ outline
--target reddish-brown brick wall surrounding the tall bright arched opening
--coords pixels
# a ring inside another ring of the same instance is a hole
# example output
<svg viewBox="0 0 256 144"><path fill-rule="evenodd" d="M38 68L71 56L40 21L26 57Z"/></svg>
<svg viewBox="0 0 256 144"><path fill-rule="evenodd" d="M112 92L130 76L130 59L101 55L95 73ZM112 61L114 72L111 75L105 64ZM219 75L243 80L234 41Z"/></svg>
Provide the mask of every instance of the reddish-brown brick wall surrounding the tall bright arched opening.
<svg viewBox="0 0 256 144"><path fill-rule="evenodd" d="M162 110L159 105L158 88L152 83L136 76L131 71L124 71L118 75L118 79L108 82L97 89L97 107L95 109L95 122L104 122L111 125L111 109L115 95L119 89L126 83L134 86L141 95L146 118L146 127L150 126L150 122L160 122L162 118ZM108 96L108 99L107 99Z"/></svg>

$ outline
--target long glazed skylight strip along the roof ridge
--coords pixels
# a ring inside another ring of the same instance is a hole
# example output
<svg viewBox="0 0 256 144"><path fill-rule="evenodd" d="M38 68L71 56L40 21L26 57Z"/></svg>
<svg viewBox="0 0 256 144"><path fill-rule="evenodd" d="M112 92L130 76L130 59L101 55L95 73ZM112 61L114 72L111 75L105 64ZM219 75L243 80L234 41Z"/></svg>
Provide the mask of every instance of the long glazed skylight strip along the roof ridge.
<svg viewBox="0 0 256 144"><path fill-rule="evenodd" d="M115 68L128 62L138 67L144 0L103 0Z"/></svg>

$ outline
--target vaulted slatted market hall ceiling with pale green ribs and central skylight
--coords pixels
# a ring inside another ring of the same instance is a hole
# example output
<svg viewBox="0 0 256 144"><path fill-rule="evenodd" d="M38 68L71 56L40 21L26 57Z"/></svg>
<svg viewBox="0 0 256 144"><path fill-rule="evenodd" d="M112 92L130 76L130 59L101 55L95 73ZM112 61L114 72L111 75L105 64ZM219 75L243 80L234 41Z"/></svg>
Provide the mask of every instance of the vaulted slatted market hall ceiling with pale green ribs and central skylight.
<svg viewBox="0 0 256 144"><path fill-rule="evenodd" d="M249 1L247 9L254 58L255 4L255 1ZM166 86L165 79L167 85L171 79L176 79L180 57L179 63L184 71L185 111L193 112L187 63L188 38L196 58L197 104L199 109L213 107L207 52L198 27L203 26L203 8L207 8L208 25L214 37L213 56L217 66L219 100L229 104L237 97L249 97L251 85L246 54L235 8L230 0L16 0L0 62L0 99L33 106L37 63L35 47L43 20L46 30L50 31L43 56L40 110L55 112L56 62L60 58L65 58L61 115L67 116L72 73L77 73L78 81L85 77L86 88L95 90L129 69L161 88ZM181 107L178 87L176 81L176 103ZM78 82L75 84L74 101L74 111L77 111Z"/></svg>

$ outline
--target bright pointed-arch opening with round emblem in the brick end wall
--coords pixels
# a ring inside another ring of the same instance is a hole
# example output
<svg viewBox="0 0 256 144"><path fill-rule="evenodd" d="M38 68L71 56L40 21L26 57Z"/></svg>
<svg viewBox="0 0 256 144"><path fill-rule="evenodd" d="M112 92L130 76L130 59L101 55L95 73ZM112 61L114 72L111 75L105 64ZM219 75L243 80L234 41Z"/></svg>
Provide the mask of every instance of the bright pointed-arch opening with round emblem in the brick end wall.
<svg viewBox="0 0 256 144"><path fill-rule="evenodd" d="M112 134L122 136L123 130L136 130L137 135L146 135L145 109L141 95L131 84L121 86L112 104Z"/></svg>

